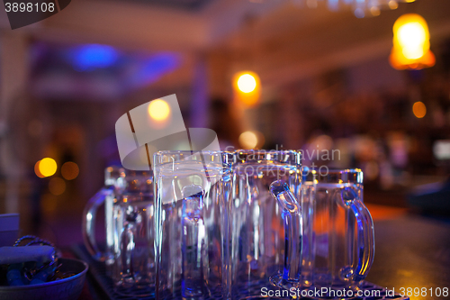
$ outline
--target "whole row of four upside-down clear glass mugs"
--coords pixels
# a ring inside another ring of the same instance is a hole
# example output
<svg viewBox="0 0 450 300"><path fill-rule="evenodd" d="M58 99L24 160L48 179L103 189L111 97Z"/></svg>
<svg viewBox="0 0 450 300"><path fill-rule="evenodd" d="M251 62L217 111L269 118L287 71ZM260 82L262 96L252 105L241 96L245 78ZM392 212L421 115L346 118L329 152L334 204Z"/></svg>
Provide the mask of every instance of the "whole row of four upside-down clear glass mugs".
<svg viewBox="0 0 450 300"><path fill-rule="evenodd" d="M374 260L363 173L301 161L295 150L159 151L154 177L107 168L85 209L86 248L123 294L242 299L263 287L357 289ZM103 202L104 253L93 226Z"/></svg>

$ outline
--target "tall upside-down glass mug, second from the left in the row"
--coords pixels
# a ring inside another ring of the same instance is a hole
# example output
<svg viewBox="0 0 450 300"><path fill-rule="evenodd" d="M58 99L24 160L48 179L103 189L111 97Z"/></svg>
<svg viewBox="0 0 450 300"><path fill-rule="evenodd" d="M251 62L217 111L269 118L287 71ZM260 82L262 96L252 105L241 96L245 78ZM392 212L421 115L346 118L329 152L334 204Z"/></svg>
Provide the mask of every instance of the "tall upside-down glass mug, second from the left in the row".
<svg viewBox="0 0 450 300"><path fill-rule="evenodd" d="M157 299L222 298L227 158L220 151L159 151L154 173Z"/></svg>

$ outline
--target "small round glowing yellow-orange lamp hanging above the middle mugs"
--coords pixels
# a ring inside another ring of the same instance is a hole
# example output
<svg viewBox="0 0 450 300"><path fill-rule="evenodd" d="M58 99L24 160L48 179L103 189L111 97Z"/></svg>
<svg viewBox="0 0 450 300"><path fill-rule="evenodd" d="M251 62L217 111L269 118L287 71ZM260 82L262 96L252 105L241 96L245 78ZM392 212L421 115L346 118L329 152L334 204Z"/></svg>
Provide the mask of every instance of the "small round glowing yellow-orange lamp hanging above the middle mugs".
<svg viewBox="0 0 450 300"><path fill-rule="evenodd" d="M245 106L255 106L259 102L261 83L257 73L242 71L233 78L235 97L238 103Z"/></svg>

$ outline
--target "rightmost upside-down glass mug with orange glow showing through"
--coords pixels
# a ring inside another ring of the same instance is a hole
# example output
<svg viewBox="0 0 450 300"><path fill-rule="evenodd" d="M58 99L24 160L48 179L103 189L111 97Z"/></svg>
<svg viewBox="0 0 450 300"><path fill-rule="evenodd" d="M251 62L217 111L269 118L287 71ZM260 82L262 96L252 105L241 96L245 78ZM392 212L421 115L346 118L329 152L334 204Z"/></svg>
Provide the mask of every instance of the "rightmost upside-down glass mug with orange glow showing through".
<svg viewBox="0 0 450 300"><path fill-rule="evenodd" d="M374 261L374 223L363 203L363 172L303 170L302 208L310 212L310 226L303 232L303 249L311 251L303 256L309 267L302 270L306 286L357 289Z"/></svg>

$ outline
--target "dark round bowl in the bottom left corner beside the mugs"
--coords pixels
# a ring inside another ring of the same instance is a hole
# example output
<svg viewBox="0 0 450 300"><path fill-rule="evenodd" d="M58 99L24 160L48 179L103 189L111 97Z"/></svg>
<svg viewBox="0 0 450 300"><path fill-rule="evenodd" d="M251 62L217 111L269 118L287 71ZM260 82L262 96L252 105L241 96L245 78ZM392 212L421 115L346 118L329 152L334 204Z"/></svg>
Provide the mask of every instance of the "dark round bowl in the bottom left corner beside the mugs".
<svg viewBox="0 0 450 300"><path fill-rule="evenodd" d="M83 291L89 268L78 259L58 259L61 272L76 275L33 286L0 286L0 299L7 300L76 300Z"/></svg>

